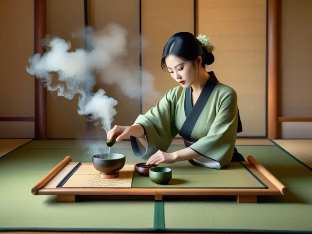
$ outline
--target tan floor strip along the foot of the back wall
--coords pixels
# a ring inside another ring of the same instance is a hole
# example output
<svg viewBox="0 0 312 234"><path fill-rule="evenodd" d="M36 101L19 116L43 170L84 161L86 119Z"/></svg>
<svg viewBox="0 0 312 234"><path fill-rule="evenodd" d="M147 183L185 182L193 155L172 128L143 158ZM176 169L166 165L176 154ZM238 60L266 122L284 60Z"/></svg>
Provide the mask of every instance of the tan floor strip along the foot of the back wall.
<svg viewBox="0 0 312 234"><path fill-rule="evenodd" d="M10 153L24 144L27 144L32 139L0 139L0 157ZM312 139L309 140L275 140L276 144L280 145L290 154L302 162L312 167ZM182 139L174 139L173 145L183 144ZM236 145L274 145L268 139L237 139ZM119 147L130 148L130 142L120 142Z"/></svg>

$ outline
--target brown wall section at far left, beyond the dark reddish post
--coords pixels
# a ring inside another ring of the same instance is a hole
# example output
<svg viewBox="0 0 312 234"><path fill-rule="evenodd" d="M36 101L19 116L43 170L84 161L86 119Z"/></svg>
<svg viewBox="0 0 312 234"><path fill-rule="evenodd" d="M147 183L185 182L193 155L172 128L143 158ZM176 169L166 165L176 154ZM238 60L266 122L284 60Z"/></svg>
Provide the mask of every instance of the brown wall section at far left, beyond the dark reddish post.
<svg viewBox="0 0 312 234"><path fill-rule="evenodd" d="M35 82L26 71L34 52L33 24L33 1L0 1L0 117L35 116ZM34 122L0 122L0 138L32 137Z"/></svg>

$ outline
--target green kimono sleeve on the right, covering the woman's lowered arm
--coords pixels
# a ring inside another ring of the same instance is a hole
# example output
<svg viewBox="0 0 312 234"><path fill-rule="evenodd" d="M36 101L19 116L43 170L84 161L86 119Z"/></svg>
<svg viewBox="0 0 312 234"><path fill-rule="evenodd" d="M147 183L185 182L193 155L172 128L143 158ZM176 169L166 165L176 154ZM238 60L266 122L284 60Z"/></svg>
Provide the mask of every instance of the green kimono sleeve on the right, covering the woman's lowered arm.
<svg viewBox="0 0 312 234"><path fill-rule="evenodd" d="M189 147L201 155L193 159L196 163L216 169L227 166L233 157L238 124L236 92L228 92L220 103L207 136Z"/></svg>

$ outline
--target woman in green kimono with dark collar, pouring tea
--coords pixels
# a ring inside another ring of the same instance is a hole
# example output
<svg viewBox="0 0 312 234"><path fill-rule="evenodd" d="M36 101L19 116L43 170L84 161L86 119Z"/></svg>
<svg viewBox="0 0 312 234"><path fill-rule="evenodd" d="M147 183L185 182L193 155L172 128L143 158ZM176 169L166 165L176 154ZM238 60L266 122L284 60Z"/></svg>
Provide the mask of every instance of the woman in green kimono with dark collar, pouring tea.
<svg viewBox="0 0 312 234"><path fill-rule="evenodd" d="M161 66L179 85L132 126L115 126L107 138L116 134L119 142L130 137L134 154L146 164L188 160L220 169L244 161L235 148L237 132L242 131L236 92L205 70L205 64L214 61L213 50L206 36L174 34L163 49ZM177 134L187 147L167 153Z"/></svg>

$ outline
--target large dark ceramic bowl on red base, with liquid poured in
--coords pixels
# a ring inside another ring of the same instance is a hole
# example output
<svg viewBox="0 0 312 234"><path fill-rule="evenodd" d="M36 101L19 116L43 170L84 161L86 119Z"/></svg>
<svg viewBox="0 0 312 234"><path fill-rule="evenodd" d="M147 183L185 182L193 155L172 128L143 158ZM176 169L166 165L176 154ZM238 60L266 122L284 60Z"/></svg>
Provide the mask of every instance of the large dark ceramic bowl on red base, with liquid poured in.
<svg viewBox="0 0 312 234"><path fill-rule="evenodd" d="M126 156L123 154L97 154L92 156L94 168L103 174L114 174L119 172L126 163Z"/></svg>

